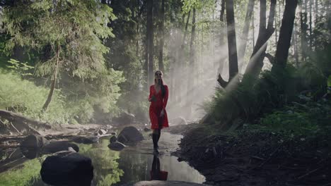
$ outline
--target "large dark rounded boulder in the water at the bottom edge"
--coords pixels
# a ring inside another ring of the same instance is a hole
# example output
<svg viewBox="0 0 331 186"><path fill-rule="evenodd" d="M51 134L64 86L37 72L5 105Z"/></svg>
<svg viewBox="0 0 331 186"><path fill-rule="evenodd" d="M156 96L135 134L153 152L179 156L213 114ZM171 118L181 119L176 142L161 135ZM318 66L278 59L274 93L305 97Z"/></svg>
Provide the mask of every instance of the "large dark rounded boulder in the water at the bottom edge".
<svg viewBox="0 0 331 186"><path fill-rule="evenodd" d="M42 181L50 185L91 185L91 159L72 151L48 156L40 170Z"/></svg>

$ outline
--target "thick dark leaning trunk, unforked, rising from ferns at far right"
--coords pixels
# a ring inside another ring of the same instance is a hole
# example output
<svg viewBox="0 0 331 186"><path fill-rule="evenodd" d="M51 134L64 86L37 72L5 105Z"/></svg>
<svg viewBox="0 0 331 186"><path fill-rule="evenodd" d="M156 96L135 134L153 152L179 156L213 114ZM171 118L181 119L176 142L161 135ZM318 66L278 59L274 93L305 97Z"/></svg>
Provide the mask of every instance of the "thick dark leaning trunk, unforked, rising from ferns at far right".
<svg viewBox="0 0 331 186"><path fill-rule="evenodd" d="M276 56L272 70L285 68L287 57L289 56L289 47L291 45L292 30L294 27L294 18L298 0L286 0L283 20L281 20L281 30L279 32L279 41L277 44Z"/></svg>

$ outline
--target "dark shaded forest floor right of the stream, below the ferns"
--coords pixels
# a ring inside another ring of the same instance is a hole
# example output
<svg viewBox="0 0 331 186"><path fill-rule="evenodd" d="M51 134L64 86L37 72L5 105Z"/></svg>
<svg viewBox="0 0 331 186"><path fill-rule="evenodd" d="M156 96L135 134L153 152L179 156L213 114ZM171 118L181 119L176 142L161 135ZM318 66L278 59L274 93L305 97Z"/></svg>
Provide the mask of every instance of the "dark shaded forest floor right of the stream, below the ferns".
<svg viewBox="0 0 331 186"><path fill-rule="evenodd" d="M184 135L173 153L209 185L331 185L330 137L286 137L263 130L207 135L203 125L170 127ZM329 135L330 136L330 135Z"/></svg>

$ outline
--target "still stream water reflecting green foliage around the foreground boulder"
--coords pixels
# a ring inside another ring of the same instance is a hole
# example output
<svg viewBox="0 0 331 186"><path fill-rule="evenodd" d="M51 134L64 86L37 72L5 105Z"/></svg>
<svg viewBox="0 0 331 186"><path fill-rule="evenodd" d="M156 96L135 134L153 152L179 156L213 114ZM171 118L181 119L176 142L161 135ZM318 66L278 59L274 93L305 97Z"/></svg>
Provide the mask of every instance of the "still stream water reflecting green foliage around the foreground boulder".
<svg viewBox="0 0 331 186"><path fill-rule="evenodd" d="M180 137L166 132L162 134L159 142L161 154L158 155L161 171L168 172L167 180L204 182L204 176L198 171L183 161L178 162L177 157L170 155L171 151L178 149ZM79 153L92 159L94 176L91 185L117 186L151 180L150 171L153 162L151 139L144 140L136 147L126 147L120 152L108 148L108 139L109 137L103 138L98 144L79 144ZM15 154L18 154L18 151ZM21 159L23 163L18 162L16 163L18 165L0 173L0 185L47 185L40 178L41 163L45 158L46 156L30 160Z"/></svg>

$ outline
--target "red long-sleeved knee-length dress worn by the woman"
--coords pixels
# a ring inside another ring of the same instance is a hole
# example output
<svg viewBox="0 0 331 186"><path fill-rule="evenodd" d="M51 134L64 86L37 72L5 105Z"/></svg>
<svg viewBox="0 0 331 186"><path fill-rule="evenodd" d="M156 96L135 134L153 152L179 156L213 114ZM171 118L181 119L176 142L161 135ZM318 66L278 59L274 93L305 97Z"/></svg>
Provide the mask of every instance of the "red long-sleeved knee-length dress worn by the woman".
<svg viewBox="0 0 331 186"><path fill-rule="evenodd" d="M151 87L149 87L149 100L151 100L151 97L153 95L156 97L156 101L151 101L151 105L149 106L149 118L151 119L151 129L158 129L158 123L161 122L163 128L169 127L168 116L167 116L167 112L165 111L165 106L167 106L167 102L168 102L169 90L167 85L164 85L164 87L165 87L164 98L162 97L161 89L158 92L156 92L154 85L151 85ZM162 109L164 109L164 115L163 117L160 117L160 113Z"/></svg>

